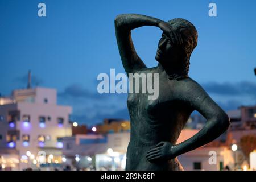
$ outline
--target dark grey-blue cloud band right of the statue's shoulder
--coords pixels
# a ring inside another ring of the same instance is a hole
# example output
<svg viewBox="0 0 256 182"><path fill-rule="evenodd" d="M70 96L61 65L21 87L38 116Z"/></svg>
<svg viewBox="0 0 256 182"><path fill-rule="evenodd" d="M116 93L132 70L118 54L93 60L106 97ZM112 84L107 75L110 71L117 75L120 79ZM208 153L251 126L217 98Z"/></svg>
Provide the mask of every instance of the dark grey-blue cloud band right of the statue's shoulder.
<svg viewBox="0 0 256 182"><path fill-rule="evenodd" d="M256 97L256 82L241 81L237 83L209 82L202 84L203 88L209 92L224 96L253 96Z"/></svg>

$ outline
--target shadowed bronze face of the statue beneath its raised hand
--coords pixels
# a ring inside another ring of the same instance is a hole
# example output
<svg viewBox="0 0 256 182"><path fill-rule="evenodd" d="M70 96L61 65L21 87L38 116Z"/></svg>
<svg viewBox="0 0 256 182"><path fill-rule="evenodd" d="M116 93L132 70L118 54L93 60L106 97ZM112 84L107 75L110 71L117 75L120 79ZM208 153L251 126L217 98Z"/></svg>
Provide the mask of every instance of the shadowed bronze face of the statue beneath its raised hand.
<svg viewBox="0 0 256 182"><path fill-rule="evenodd" d="M162 34L162 38L158 43L158 50L156 51L155 59L159 63L171 63L177 60L180 49L172 43L171 39L165 34Z"/></svg>

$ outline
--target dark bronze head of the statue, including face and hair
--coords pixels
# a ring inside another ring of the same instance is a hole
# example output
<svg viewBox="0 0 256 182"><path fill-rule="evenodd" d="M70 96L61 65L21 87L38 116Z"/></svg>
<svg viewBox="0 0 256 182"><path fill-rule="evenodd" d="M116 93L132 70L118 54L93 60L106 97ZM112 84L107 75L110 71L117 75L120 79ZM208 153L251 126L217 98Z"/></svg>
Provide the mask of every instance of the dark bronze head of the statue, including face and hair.
<svg viewBox="0 0 256 182"><path fill-rule="evenodd" d="M168 23L180 32L183 44L172 43L166 34L159 40L158 51L155 59L167 69L176 69L181 75L188 75L189 59L197 45L197 31L188 20L175 18Z"/></svg>

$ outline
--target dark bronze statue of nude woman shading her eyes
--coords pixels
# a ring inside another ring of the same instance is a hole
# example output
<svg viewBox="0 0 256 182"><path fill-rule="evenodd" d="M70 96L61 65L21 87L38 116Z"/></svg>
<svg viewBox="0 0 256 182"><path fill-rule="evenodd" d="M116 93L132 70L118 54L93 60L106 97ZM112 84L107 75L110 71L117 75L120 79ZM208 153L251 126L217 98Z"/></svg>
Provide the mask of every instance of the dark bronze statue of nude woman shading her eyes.
<svg viewBox="0 0 256 182"><path fill-rule="evenodd" d="M163 30L155 59L158 66L147 68L137 55L131 30L155 26ZM129 93L131 138L126 170L183 170L177 156L219 137L230 125L226 113L203 88L188 77L189 59L197 45L197 31L185 19L163 20L139 14L115 18L115 34L123 67L129 73L158 73L159 97ZM191 113L197 110L207 123L193 137L176 144Z"/></svg>

